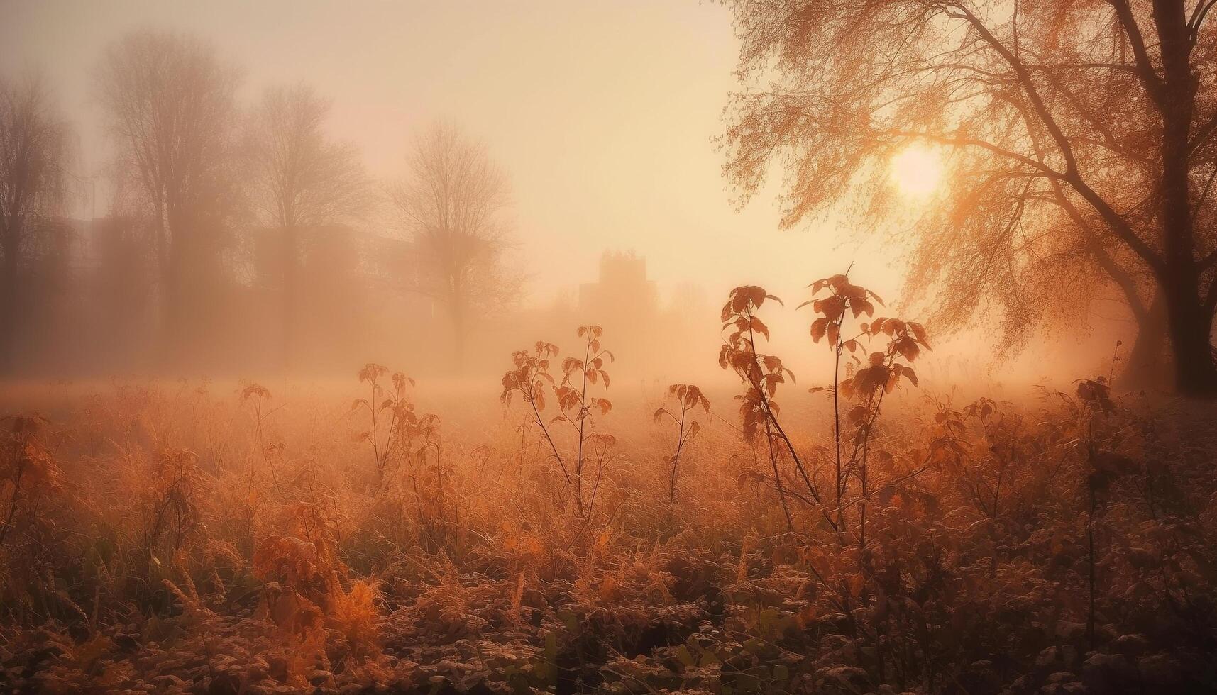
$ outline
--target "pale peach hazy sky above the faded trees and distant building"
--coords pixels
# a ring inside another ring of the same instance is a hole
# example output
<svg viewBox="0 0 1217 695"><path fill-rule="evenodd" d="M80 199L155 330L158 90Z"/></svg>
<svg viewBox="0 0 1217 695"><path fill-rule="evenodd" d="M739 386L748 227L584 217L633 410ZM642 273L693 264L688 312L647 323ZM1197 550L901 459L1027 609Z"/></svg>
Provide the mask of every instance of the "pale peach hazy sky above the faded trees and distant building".
<svg viewBox="0 0 1217 695"><path fill-rule="evenodd" d="M450 118L483 139L512 181L534 297L594 276L601 250L635 250L669 290L768 282L797 295L839 271L853 241L776 230L772 200L736 213L711 139L735 88L730 13L696 0L257 2L0 0L5 66L33 62L102 162L90 73L140 27L194 32L241 67L242 97L312 83L332 129L370 172L400 172L410 135ZM744 241L741 245L740 242ZM836 250L840 243L845 246ZM876 243L856 273L891 288Z"/></svg>

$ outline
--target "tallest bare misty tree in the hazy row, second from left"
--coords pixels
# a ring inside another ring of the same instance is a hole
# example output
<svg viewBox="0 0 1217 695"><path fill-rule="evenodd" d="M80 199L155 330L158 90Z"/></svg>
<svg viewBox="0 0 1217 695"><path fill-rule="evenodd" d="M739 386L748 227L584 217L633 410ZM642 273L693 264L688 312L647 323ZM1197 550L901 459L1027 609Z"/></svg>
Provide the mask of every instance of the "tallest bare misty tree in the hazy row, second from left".
<svg viewBox="0 0 1217 695"><path fill-rule="evenodd" d="M218 263L218 230L235 195L237 73L192 37L142 30L106 51L96 79L152 209L162 349L169 349L186 325L191 282Z"/></svg>

